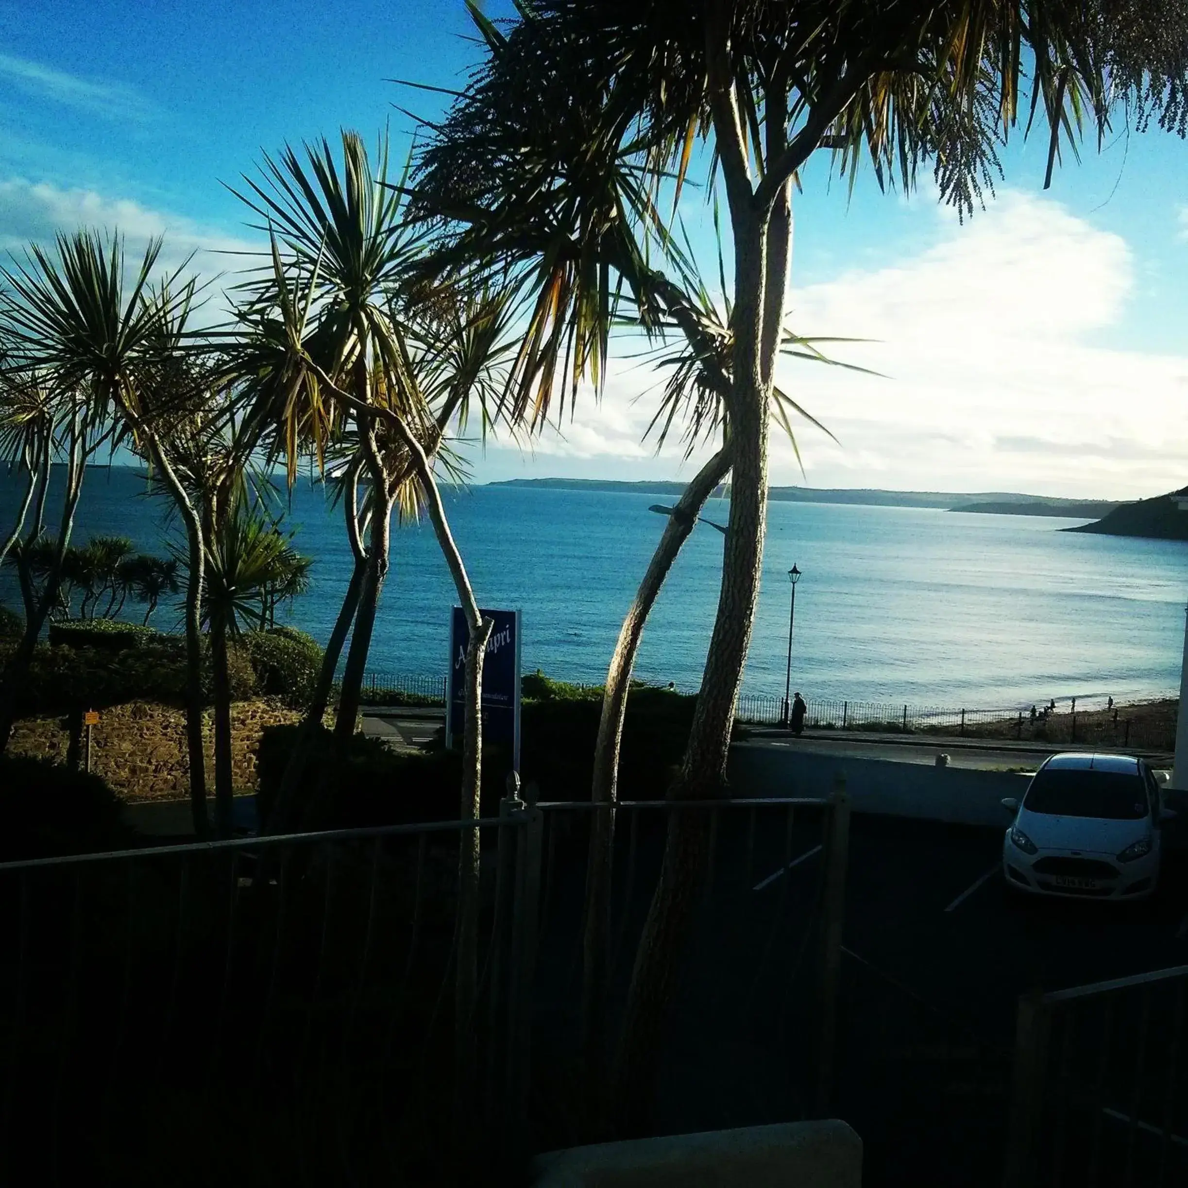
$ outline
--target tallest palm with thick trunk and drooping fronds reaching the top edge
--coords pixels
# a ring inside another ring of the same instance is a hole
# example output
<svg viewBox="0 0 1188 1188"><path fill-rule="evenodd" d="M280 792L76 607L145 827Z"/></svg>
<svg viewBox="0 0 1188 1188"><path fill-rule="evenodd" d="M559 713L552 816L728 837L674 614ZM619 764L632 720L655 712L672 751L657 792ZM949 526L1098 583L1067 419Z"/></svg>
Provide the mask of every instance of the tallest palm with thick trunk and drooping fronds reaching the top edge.
<svg viewBox="0 0 1188 1188"><path fill-rule="evenodd" d="M701 695L670 795L719 795L759 588L775 365L791 254L791 187L821 148L851 182L870 159L883 185L931 164L941 197L971 211L992 188L996 147L1047 118L1049 175L1085 121L1116 103L1142 126L1183 129L1188 13L1073 0L866 5L834 0L538 0L497 27L470 11L487 56L421 162L419 204L459 228L453 266L497 259L533 297L511 411L529 424L560 393L605 375L615 316L644 333L670 318L707 356L695 302L669 268L670 221L695 162L725 192L732 238L728 369L721 374L731 511ZM706 151L694 154L697 141ZM716 197L715 197L716 209ZM615 295L624 292L621 301ZM713 466L720 466L720 460ZM710 475L682 508L695 512ZM670 523L670 530L677 525ZM671 536L666 532L665 536ZM640 1117L662 1011L706 843L675 814L637 952L617 1108Z"/></svg>

